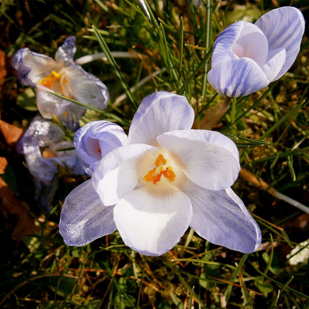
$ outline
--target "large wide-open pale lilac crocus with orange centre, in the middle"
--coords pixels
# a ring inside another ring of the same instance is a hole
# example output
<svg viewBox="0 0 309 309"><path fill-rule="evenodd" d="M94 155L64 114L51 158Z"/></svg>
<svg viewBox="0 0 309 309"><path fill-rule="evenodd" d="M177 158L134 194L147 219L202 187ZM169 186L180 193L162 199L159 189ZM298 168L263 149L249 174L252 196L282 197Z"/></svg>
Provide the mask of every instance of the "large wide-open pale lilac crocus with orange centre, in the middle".
<svg viewBox="0 0 309 309"><path fill-rule="evenodd" d="M230 188L240 170L237 147L221 133L190 129L193 121L184 96L144 98L128 143L66 197L59 224L65 243L85 245L117 228L127 246L158 256L191 226L212 243L255 251L260 229Z"/></svg>

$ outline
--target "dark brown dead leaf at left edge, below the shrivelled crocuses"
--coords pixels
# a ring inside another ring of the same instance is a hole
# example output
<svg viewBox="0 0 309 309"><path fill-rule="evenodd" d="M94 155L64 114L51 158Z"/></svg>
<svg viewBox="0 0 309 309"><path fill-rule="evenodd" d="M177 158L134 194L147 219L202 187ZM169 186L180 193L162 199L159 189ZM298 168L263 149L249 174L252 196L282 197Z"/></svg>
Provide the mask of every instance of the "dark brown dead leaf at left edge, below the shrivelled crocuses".
<svg viewBox="0 0 309 309"><path fill-rule="evenodd" d="M6 159L0 157L0 173L2 169L4 173L6 165ZM16 199L15 194L2 177L0 177L0 201L0 210L5 218L7 218L8 212L16 217L16 225L12 232L13 239L19 242L24 235L36 234L37 227L34 225L25 205Z"/></svg>

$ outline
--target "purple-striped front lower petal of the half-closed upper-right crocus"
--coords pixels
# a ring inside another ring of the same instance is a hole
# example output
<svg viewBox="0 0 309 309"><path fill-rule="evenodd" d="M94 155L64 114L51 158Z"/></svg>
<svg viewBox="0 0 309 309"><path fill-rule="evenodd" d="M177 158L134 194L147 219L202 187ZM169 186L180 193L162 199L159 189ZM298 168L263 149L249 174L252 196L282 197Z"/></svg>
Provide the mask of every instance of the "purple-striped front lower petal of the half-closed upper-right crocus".
<svg viewBox="0 0 309 309"><path fill-rule="evenodd" d="M220 95L228 97L248 95L269 84L262 69L247 57L219 63L208 72L207 80Z"/></svg>

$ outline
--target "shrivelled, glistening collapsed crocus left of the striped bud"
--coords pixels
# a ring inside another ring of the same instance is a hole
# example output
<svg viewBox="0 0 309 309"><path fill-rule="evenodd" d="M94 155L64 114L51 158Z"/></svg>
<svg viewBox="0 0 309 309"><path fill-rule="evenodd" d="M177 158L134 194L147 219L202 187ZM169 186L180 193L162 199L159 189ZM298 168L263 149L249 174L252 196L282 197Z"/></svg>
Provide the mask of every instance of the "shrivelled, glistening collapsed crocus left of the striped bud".
<svg viewBox="0 0 309 309"><path fill-rule="evenodd" d="M75 175L84 174L83 162L76 150L55 151L72 146L73 142L64 140L64 133L58 125L36 116L16 149L19 154L25 155L30 174L49 185L58 171L57 166L66 167Z"/></svg>

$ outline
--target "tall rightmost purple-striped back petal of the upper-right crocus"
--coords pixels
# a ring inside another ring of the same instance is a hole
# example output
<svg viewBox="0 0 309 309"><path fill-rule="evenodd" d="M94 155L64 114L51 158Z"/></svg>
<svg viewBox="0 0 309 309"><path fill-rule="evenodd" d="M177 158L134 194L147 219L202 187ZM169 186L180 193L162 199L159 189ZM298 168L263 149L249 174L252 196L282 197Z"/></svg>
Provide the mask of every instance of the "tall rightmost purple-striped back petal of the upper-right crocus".
<svg viewBox="0 0 309 309"><path fill-rule="evenodd" d="M279 79L290 69L299 52L305 30L303 14L295 7L274 9L256 21L268 40L269 49L284 48L286 61L273 80Z"/></svg>

